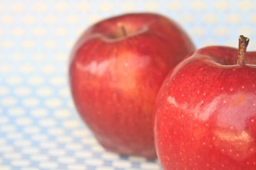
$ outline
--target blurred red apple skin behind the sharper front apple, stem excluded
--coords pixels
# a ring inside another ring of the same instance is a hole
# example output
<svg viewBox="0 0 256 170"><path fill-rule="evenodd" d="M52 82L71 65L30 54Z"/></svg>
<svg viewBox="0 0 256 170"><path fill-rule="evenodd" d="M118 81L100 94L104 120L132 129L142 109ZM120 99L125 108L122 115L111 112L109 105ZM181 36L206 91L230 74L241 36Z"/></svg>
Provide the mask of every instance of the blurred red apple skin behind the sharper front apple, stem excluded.
<svg viewBox="0 0 256 170"><path fill-rule="evenodd" d="M108 18L81 35L71 54L70 88L81 118L105 149L156 158L152 115L158 89L194 49L176 23L149 13Z"/></svg>

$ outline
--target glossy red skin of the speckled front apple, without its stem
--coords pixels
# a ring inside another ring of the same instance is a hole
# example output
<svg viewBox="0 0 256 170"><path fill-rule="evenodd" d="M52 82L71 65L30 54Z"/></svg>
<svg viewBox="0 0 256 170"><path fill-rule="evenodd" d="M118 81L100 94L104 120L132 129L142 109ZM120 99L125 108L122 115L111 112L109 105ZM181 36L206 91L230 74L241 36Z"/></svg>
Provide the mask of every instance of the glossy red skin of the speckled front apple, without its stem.
<svg viewBox="0 0 256 170"><path fill-rule="evenodd" d="M256 170L256 52L206 47L169 72L155 107L164 170Z"/></svg>

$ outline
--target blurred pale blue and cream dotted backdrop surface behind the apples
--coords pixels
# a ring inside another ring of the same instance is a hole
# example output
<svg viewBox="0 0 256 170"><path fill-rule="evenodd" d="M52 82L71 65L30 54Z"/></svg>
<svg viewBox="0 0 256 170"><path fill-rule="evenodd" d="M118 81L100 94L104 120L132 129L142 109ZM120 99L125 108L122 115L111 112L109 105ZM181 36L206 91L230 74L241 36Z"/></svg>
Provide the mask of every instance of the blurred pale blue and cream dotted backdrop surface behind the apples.
<svg viewBox="0 0 256 170"><path fill-rule="evenodd" d="M197 48L256 51L254 0L0 0L0 170L161 170L158 161L105 152L80 120L67 66L79 35L100 19L157 12Z"/></svg>

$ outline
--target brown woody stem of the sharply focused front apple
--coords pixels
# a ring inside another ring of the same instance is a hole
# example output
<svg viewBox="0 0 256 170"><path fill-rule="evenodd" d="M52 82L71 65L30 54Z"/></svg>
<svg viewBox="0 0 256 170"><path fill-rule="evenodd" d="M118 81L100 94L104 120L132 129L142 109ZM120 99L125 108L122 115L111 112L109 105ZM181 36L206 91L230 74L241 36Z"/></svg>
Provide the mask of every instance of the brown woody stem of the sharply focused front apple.
<svg viewBox="0 0 256 170"><path fill-rule="evenodd" d="M239 36L237 64L240 66L245 66L245 53L246 53L246 48L248 46L248 43L249 43L249 38L243 35Z"/></svg>

